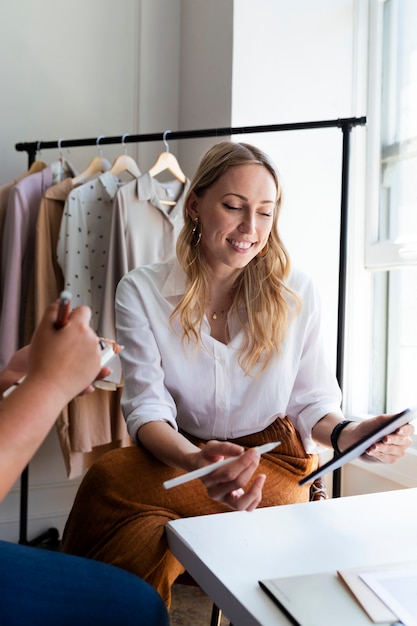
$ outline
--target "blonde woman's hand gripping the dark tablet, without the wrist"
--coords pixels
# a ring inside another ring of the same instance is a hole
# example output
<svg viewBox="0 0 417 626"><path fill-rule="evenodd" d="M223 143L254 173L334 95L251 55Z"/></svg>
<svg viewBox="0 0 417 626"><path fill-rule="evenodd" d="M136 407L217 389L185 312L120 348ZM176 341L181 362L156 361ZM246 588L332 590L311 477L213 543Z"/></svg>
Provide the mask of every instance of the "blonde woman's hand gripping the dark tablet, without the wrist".
<svg viewBox="0 0 417 626"><path fill-rule="evenodd" d="M375 429L376 426L382 425L391 417L393 416L378 415L377 417L372 417L364 420L363 422L349 424L349 426L342 431L339 438L339 447L340 445L343 446L340 449L346 449L362 437L369 434ZM391 435L387 435L382 439L382 441L375 443L373 446L368 448L361 458L369 461L379 461L380 463L396 463L407 454L407 450L413 441L411 438L413 434L414 427L412 424L401 426L401 428L398 428Z"/></svg>

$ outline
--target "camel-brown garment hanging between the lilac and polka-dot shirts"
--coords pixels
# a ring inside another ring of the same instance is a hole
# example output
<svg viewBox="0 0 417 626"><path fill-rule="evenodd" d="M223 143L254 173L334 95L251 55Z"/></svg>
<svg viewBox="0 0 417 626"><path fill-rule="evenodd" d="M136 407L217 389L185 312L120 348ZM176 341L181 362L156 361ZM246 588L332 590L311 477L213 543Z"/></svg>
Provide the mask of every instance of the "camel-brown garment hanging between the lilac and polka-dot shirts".
<svg viewBox="0 0 417 626"><path fill-rule="evenodd" d="M65 200L72 188L69 178L53 185L43 195L39 207L32 281L35 324L64 288L55 250ZM27 319L31 319L29 313ZM29 325L26 330L29 336ZM97 389L93 394L75 398L59 416L56 425L69 478L81 476L109 449L130 445L119 396L118 392Z"/></svg>

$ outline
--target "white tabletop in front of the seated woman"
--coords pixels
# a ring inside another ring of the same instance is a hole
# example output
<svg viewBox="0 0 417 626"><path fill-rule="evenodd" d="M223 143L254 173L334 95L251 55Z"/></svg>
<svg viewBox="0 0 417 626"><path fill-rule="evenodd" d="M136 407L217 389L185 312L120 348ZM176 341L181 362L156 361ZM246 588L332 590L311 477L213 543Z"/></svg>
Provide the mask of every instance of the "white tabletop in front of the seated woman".
<svg viewBox="0 0 417 626"><path fill-rule="evenodd" d="M417 488L179 519L167 536L234 626L288 626L258 580L417 560Z"/></svg>

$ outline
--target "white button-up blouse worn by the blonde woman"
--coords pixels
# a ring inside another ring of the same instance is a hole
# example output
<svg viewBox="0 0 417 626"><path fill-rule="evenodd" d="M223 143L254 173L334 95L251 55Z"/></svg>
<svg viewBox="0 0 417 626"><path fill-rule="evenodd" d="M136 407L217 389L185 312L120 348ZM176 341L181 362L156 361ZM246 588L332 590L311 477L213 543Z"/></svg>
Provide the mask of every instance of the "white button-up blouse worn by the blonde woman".
<svg viewBox="0 0 417 626"><path fill-rule="evenodd" d="M323 450L311 429L330 412L342 417L341 392L324 350L320 302L310 279L293 270L288 285L302 299L281 352L260 376L239 365L243 332L229 314L230 342L210 335L203 345L182 340L170 315L184 294L177 261L142 266L126 274L116 292L117 340L125 387L122 410L133 440L140 426L163 420L202 439L233 439L259 432L277 417L291 419L307 452Z"/></svg>

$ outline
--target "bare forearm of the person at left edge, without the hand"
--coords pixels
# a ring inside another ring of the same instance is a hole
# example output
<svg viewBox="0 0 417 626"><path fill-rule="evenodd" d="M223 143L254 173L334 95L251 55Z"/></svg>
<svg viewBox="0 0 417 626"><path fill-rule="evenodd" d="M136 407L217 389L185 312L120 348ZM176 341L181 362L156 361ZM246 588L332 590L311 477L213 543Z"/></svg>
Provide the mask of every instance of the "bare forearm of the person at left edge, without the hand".
<svg viewBox="0 0 417 626"><path fill-rule="evenodd" d="M67 403L67 397L52 387L28 378L0 402L0 501Z"/></svg>

